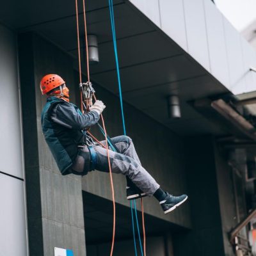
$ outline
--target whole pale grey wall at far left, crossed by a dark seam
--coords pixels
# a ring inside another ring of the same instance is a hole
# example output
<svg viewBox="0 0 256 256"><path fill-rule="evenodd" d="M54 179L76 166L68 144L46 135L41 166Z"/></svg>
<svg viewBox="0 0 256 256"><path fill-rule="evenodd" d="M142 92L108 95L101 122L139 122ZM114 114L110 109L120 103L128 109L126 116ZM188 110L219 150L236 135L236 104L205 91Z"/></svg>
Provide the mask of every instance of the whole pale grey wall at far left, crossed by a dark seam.
<svg viewBox="0 0 256 256"><path fill-rule="evenodd" d="M27 253L17 38L0 24L0 255ZM10 176L12 175L12 176Z"/></svg>

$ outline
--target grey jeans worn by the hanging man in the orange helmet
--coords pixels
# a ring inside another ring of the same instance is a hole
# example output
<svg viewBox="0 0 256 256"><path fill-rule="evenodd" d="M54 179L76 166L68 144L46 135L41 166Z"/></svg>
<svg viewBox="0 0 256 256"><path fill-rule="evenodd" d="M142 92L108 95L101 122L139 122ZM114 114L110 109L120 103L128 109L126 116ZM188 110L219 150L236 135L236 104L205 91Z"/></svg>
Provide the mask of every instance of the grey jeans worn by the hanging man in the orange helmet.
<svg viewBox="0 0 256 256"><path fill-rule="evenodd" d="M113 173L122 173L127 175L132 182L145 192L148 196L152 196L159 188L156 180L141 166L140 159L136 153L131 138L128 136L117 136L111 138L115 143L119 152L109 150L109 158L111 170ZM106 145L105 141L100 141ZM108 156L106 148L99 145L93 146L96 152L97 161L95 164L96 170L100 172L109 172ZM72 173L77 175L85 175L91 170L91 158L88 147L79 149L76 163L72 166Z"/></svg>

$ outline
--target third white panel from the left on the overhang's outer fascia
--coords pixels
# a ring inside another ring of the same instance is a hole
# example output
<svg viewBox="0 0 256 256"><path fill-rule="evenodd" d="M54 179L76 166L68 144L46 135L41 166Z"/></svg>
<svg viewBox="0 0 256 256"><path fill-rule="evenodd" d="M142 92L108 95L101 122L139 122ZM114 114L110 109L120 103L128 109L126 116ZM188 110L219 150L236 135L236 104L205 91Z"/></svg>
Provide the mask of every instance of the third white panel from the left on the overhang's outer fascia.
<svg viewBox="0 0 256 256"><path fill-rule="evenodd" d="M188 52L206 70L210 70L205 28L204 0L184 0Z"/></svg>

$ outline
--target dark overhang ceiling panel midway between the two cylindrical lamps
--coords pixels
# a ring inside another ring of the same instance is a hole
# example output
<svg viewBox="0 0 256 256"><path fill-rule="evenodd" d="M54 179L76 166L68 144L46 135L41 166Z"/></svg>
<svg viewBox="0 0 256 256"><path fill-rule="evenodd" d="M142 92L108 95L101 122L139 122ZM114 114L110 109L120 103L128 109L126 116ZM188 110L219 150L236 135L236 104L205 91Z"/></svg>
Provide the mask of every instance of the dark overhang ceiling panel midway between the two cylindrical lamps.
<svg viewBox="0 0 256 256"><path fill-rule="evenodd" d="M124 93L131 90L145 89L149 86L157 86L158 84L202 76L203 74L205 74L203 68L196 67L184 55L141 63L120 70ZM116 70L106 70L106 72L96 73L93 74L93 77L97 83L106 84L106 88L109 88L114 93L118 93Z"/></svg>

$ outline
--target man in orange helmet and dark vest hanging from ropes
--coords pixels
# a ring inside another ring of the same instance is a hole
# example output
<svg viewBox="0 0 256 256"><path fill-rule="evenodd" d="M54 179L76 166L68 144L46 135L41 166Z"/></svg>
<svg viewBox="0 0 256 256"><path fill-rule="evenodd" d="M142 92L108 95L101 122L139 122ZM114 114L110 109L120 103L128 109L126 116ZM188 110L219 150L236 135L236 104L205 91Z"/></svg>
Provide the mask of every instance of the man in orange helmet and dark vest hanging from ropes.
<svg viewBox="0 0 256 256"><path fill-rule="evenodd" d="M90 111L82 114L76 105L69 102L65 81L56 74L44 76L40 88L42 94L47 95L47 103L42 111L42 130L61 174L86 175L92 170L108 172L106 148L94 143L86 132L88 127L99 121L100 114L106 108L104 103L96 100ZM169 195L160 188L141 166L131 138L117 136L111 140L118 149L118 152L109 150L113 173L126 175L142 193L154 195L165 214L187 200L187 195ZM101 143L106 145L104 141ZM93 149L93 155L90 148ZM131 196L131 191L127 191L127 195Z"/></svg>

